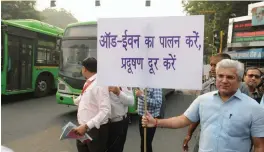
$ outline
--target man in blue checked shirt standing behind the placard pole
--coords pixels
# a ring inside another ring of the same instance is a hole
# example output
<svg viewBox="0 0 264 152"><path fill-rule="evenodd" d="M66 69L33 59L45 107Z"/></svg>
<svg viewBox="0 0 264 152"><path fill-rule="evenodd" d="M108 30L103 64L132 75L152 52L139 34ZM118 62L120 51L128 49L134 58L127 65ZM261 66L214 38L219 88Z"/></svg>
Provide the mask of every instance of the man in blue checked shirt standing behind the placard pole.
<svg viewBox="0 0 264 152"><path fill-rule="evenodd" d="M144 128L142 127L142 116L145 114L144 106L144 90L137 89L135 91L138 97L138 115L139 115L139 132L141 137L141 152L144 152ZM162 105L162 89L147 88L146 90L146 101L147 110L153 115L153 117L158 118L160 116L160 108ZM147 152L152 152L152 140L156 132L156 127L147 128Z"/></svg>

